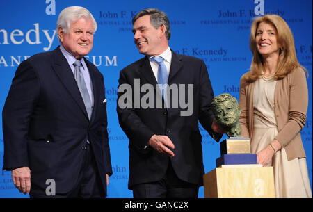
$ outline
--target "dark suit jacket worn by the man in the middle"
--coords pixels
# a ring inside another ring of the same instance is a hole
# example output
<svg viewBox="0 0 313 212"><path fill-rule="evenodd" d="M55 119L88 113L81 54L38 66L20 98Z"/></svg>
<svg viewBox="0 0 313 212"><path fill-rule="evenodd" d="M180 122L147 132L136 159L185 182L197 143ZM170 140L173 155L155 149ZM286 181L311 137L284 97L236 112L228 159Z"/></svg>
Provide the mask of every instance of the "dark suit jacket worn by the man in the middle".
<svg viewBox="0 0 313 212"><path fill-rule="evenodd" d="M204 62L172 51L168 85L184 84L187 88L187 84L193 84L193 114L190 116L181 116L180 112L186 111L181 107L134 108L134 79L140 79L141 85L152 84L156 93L157 80L147 56L125 67L120 72L119 79L120 85L127 83L132 88L132 108L123 109L119 105L117 108L120 126L129 138L129 188L134 184L159 181L166 173L169 157L159 154L152 147L145 148L154 134L166 135L174 143L175 156L170 160L179 179L201 186L204 166L198 121L214 136L211 130L213 113L210 108L214 93ZM145 94L141 92L140 97ZM125 92L119 90L118 99L123 95ZM214 137L220 140L221 135Z"/></svg>

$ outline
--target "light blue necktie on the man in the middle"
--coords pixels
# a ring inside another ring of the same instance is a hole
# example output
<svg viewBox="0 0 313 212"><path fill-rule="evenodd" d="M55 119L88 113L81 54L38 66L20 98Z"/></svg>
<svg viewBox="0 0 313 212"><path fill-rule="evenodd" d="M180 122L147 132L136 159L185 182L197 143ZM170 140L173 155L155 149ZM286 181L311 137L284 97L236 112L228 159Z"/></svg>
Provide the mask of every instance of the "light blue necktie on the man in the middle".
<svg viewBox="0 0 313 212"><path fill-rule="evenodd" d="M151 58L151 60L157 62L159 64L159 70L158 70L158 84L162 85L162 88L160 88L162 96L164 98L164 101L167 105L167 84L168 84L168 69L166 68L166 65L163 62L163 58L161 56L155 56Z"/></svg>

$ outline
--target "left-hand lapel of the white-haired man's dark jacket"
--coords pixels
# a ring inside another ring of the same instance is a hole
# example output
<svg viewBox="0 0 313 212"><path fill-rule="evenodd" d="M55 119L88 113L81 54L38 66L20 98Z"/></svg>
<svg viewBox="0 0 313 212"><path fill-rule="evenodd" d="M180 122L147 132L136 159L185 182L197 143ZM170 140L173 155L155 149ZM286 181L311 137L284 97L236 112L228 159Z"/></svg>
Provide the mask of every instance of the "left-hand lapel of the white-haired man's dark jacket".
<svg viewBox="0 0 313 212"><path fill-rule="evenodd" d="M77 87L77 83L74 79L74 74L68 65L66 58L63 56L60 47L54 50L54 64L52 65L54 72L58 75L58 78L63 83L65 88L70 95L72 95L74 101L79 105L81 111L86 115L88 119L88 114L86 111L85 104L83 103L83 98Z"/></svg>

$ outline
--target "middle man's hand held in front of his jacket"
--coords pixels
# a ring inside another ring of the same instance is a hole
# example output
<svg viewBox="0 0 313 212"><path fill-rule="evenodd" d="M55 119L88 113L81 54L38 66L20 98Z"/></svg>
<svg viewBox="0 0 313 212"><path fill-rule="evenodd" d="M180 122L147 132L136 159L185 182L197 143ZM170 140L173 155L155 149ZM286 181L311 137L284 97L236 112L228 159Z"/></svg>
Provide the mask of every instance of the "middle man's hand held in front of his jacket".
<svg viewBox="0 0 313 212"><path fill-rule="evenodd" d="M171 149L175 149L174 144L172 143L170 138L168 138L168 136L153 135L149 140L149 145L157 150L157 152L166 154L171 158L175 156L174 152L168 149L168 147L170 147Z"/></svg>

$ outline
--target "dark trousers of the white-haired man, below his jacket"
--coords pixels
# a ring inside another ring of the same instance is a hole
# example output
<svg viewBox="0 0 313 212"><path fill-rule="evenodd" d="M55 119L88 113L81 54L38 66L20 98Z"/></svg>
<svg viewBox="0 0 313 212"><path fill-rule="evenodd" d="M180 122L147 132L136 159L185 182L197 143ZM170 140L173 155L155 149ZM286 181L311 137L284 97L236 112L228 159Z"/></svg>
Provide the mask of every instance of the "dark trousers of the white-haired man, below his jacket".
<svg viewBox="0 0 313 212"><path fill-rule="evenodd" d="M91 149L91 146L86 143L83 147L83 151L85 154L83 156L83 165L81 167L81 172L79 173L79 179L76 186L74 186L69 193L46 195L45 190L31 188L29 196L31 198L105 198L106 195L97 171L95 156L92 152L93 150ZM56 184L56 186L58 185ZM31 187L33 187L33 184ZM35 190L35 192L32 190Z"/></svg>

